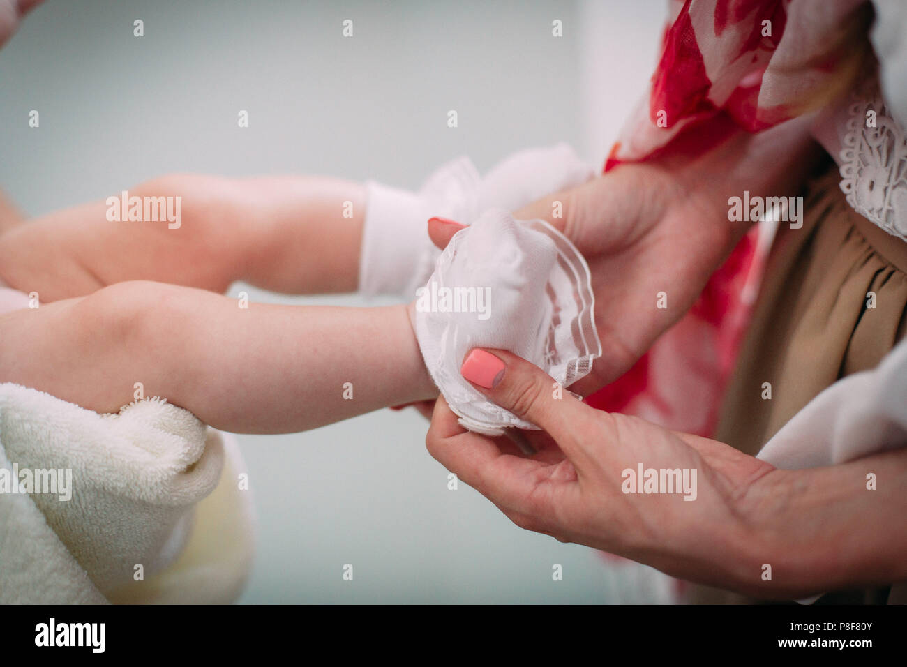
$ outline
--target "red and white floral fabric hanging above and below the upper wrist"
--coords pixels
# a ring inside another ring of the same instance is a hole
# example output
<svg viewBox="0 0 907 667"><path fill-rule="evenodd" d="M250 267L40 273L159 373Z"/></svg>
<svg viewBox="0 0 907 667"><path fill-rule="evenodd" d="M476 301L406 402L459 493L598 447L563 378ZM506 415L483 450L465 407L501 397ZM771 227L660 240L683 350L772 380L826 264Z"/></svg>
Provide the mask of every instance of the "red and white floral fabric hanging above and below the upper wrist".
<svg viewBox="0 0 907 667"><path fill-rule="evenodd" d="M713 144L728 128L760 132L833 102L863 63L855 56L868 44L866 5L671 0L649 94L605 171L678 150L681 134L697 139L686 145ZM688 314L627 374L587 398L591 406L703 436L713 432L765 259L757 233L738 244Z"/></svg>

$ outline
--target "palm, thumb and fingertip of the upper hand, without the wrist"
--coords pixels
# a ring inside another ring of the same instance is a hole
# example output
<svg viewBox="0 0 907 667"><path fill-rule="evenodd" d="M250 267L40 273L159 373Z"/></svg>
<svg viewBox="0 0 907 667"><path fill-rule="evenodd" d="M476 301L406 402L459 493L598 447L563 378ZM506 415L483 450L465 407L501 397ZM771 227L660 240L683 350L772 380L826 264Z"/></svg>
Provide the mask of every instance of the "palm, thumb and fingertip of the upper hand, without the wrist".
<svg viewBox="0 0 907 667"><path fill-rule="evenodd" d="M561 218L551 216L556 201ZM728 224L715 222L717 211L649 165L621 166L514 217L551 222L589 262L602 357L572 387L584 394L619 378L682 317L737 239ZM441 248L462 228L429 221L429 235ZM668 292L668 309L655 308L659 291Z"/></svg>

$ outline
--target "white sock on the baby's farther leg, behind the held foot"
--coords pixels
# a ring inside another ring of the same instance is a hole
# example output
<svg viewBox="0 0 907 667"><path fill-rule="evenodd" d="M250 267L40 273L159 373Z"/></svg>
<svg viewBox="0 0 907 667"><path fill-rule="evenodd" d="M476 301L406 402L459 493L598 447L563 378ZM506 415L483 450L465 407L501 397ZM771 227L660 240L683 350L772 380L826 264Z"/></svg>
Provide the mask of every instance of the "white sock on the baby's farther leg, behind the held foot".
<svg viewBox="0 0 907 667"><path fill-rule="evenodd" d="M428 238L431 217L465 224L486 209L514 211L594 175L568 144L559 143L514 153L484 178L468 158L453 160L435 171L418 192L368 181L359 291L414 298L440 254Z"/></svg>

